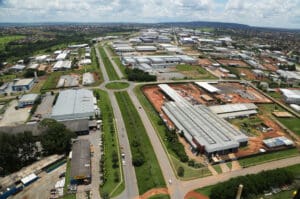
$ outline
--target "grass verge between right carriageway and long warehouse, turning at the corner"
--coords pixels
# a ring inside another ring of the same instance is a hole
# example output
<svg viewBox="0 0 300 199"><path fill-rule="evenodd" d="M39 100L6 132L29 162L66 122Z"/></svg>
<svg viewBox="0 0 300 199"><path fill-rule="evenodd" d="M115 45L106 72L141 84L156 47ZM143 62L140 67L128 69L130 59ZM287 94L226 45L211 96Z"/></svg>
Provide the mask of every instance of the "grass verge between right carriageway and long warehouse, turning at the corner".
<svg viewBox="0 0 300 199"><path fill-rule="evenodd" d="M166 141L167 137L165 134L166 126L165 125L159 125L161 118L151 105L151 103L148 101L148 99L145 97L145 95L141 91L142 86L137 86L134 89L134 92L136 96L138 97L139 101L141 102L143 108L145 109L153 127L155 128L156 132L158 133L158 136L166 150L166 152L170 155L170 161L173 165L174 172L176 173L179 166L182 166L184 168L184 176L181 177L182 180L190 180L195 178L201 178L204 176L211 175L210 171L207 168L201 168L201 169L195 169L189 167L186 163L182 163L179 160L179 157L169 148L169 144Z"/></svg>

